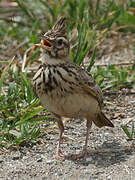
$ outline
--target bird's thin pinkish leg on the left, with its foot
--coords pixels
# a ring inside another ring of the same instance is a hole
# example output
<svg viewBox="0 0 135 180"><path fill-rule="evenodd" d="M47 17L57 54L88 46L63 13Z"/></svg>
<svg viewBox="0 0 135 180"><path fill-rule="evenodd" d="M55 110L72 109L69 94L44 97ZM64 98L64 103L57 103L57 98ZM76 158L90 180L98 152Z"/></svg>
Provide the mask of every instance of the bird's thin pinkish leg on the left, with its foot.
<svg viewBox="0 0 135 180"><path fill-rule="evenodd" d="M56 151L56 158L59 158L59 157L65 157L65 155L62 154L61 149L60 149L60 145L62 143L62 134L64 132L64 125L60 116L56 116L56 121L60 129L59 140L58 140L57 151Z"/></svg>

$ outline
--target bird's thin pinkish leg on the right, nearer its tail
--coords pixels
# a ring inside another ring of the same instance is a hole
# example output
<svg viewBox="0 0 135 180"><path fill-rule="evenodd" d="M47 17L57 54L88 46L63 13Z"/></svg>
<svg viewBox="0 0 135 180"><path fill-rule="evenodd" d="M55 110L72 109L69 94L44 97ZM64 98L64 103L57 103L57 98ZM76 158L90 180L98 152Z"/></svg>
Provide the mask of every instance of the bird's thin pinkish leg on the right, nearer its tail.
<svg viewBox="0 0 135 180"><path fill-rule="evenodd" d="M86 123L87 132L86 132L85 145L84 145L83 151L80 154L73 154L72 155L72 158L74 160L79 159L79 158L83 158L83 157L88 155L88 137L89 137L91 126L92 126L92 121L89 121L89 119L87 119L87 123Z"/></svg>

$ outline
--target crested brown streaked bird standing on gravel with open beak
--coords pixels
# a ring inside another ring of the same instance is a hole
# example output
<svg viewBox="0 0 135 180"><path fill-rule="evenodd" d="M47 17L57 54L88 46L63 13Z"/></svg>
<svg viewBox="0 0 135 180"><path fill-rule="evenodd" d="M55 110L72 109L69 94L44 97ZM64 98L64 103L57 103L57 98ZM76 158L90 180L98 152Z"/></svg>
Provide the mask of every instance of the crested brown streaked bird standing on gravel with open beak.
<svg viewBox="0 0 135 180"><path fill-rule="evenodd" d="M97 127L114 127L102 111L103 94L83 67L69 57L70 42L66 33L66 17L41 35L41 64L33 77L33 92L43 107L52 112L59 127L56 157L66 158L61 151L64 132L63 118L86 119L86 139L83 150L74 159L88 155L88 137L92 123Z"/></svg>

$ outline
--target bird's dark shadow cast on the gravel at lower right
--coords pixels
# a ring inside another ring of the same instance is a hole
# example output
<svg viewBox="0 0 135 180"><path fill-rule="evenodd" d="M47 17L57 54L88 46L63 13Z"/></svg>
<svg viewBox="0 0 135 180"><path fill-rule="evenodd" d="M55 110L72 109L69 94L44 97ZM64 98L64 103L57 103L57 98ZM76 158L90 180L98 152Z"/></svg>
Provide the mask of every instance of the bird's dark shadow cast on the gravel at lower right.
<svg viewBox="0 0 135 180"><path fill-rule="evenodd" d="M101 146L96 148L97 150L91 150L88 156L82 159L73 160L72 155L69 155L69 160L74 161L83 166L94 164L96 167L108 167L113 164L119 164L128 160L129 156L135 152L135 147L122 146L118 142L104 142Z"/></svg>

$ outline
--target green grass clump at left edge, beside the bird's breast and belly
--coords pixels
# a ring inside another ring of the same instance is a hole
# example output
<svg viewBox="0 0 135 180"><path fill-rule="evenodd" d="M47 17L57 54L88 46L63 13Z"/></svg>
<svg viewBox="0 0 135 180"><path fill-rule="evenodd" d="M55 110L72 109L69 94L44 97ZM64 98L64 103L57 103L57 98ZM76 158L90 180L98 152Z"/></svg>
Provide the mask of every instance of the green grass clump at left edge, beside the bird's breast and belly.
<svg viewBox="0 0 135 180"><path fill-rule="evenodd" d="M13 59L9 65L11 63ZM35 99L26 74L13 73L6 66L1 77L0 145L9 147L34 143L40 133L39 123L50 116L38 116L45 108L39 106L39 100Z"/></svg>

